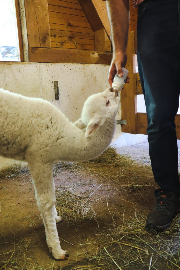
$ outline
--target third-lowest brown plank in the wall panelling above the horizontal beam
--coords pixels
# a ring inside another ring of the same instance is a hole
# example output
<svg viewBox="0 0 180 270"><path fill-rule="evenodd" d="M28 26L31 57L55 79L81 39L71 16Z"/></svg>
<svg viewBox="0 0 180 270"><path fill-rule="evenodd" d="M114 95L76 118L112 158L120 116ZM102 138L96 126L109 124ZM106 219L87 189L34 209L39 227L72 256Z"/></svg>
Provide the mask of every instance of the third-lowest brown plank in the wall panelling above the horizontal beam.
<svg viewBox="0 0 180 270"><path fill-rule="evenodd" d="M61 36L61 37L69 37L69 38L83 38L83 39L93 39L94 34L87 34L87 33L79 33L79 32L71 32L71 31L60 31L60 30L53 30L50 29L51 36Z"/></svg>

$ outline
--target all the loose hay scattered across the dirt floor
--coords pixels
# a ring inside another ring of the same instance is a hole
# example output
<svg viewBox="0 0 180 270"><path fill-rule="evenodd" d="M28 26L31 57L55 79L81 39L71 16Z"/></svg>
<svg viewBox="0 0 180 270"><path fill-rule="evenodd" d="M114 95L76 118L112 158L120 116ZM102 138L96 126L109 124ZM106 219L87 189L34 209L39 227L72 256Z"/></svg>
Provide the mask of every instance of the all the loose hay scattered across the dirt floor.
<svg viewBox="0 0 180 270"><path fill-rule="evenodd" d="M107 183L118 183L127 186L129 189L145 189L152 185L145 184L151 181L152 173L149 166L138 166L131 158L117 154L112 147L108 148L100 157L95 160L84 163L56 163L54 164L54 176L57 176L62 170L68 170L73 174L85 171L87 174L99 177L101 181ZM1 178L24 177L29 175L27 167L8 168L0 172ZM141 182L142 178L142 182ZM92 191L79 194L78 188L83 185L82 182L57 188L57 211L64 217L65 222L77 228L82 227L83 222L87 226L87 221L94 222L96 226L89 227L89 232L93 235L91 243L81 241L81 235L78 235L79 249L77 256L83 254L81 265L79 261L74 260L71 270L159 270L159 269L180 269L180 222L177 216L171 224L168 231L155 233L144 229L145 216L138 211L137 205L133 205L133 213L128 220L123 218L122 214L111 214L110 219L100 218L91 207ZM109 211L110 212L110 211ZM116 224L115 220L119 218L122 224ZM78 232L79 233L79 232ZM1 243L10 242L2 239ZM22 242L9 243L9 250L3 251L3 260L0 268L3 269L34 269L43 270L38 266L35 259L31 258L30 250L35 245L30 238L23 238ZM87 247L87 248L85 248ZM4 250L3 247L1 247ZM78 258L79 258L78 257ZM78 265L79 264L79 265ZM69 267L69 266L68 266ZM49 269L60 269L55 263L52 263ZM63 268L62 268L63 269Z"/></svg>

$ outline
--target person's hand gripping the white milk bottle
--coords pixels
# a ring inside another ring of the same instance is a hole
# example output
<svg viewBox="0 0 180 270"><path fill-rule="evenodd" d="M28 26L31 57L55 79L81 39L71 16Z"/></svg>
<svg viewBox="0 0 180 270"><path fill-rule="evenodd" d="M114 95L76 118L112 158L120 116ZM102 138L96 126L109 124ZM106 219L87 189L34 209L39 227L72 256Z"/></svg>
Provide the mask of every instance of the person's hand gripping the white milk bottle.
<svg viewBox="0 0 180 270"><path fill-rule="evenodd" d="M110 69L109 69L109 75L108 75L108 82L110 86L112 86L114 76L116 73L119 75L119 77L123 76L123 70L122 68L125 67L127 62L127 54L124 51L118 51L113 53L113 59L111 61ZM127 77L125 83L129 83L130 77Z"/></svg>

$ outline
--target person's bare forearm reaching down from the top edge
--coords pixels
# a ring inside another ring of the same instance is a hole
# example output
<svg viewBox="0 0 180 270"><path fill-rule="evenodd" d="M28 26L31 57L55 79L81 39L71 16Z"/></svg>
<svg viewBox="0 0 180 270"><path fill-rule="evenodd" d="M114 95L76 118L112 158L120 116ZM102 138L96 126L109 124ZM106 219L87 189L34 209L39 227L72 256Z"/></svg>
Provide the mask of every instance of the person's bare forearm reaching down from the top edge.
<svg viewBox="0 0 180 270"><path fill-rule="evenodd" d="M126 50L129 28L129 0L107 0L113 51Z"/></svg>

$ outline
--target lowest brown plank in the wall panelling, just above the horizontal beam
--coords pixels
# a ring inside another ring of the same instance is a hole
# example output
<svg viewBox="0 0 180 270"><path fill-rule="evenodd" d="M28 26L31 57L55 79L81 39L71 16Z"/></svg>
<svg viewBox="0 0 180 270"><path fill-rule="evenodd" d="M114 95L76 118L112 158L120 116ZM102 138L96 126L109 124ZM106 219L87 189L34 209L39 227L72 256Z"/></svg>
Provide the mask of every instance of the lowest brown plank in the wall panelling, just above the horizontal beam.
<svg viewBox="0 0 180 270"><path fill-rule="evenodd" d="M51 48L95 50L94 45L80 44L80 43L65 43L65 42L51 42Z"/></svg>

